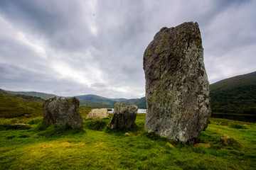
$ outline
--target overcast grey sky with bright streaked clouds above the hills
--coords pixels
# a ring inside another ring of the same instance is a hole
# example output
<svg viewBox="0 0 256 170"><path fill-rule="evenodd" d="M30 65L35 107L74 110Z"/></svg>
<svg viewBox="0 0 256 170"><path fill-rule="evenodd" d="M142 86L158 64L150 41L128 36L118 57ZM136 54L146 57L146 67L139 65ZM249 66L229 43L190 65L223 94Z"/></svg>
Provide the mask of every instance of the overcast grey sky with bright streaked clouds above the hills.
<svg viewBox="0 0 256 170"><path fill-rule="evenodd" d="M256 1L1 0L0 88L145 95L143 54L163 27L198 22L210 84L256 71Z"/></svg>

